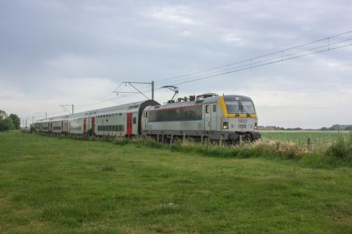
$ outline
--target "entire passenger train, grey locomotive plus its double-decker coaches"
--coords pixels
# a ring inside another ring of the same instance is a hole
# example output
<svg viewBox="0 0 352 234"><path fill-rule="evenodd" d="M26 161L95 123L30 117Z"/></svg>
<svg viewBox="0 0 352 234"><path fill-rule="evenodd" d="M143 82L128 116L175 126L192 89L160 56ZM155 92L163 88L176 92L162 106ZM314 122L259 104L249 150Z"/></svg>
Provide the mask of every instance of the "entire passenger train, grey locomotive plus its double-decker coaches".
<svg viewBox="0 0 352 234"><path fill-rule="evenodd" d="M247 96L205 93L170 100L116 105L39 119L34 130L43 134L75 134L99 137L159 136L208 138L214 141L256 141L258 116Z"/></svg>

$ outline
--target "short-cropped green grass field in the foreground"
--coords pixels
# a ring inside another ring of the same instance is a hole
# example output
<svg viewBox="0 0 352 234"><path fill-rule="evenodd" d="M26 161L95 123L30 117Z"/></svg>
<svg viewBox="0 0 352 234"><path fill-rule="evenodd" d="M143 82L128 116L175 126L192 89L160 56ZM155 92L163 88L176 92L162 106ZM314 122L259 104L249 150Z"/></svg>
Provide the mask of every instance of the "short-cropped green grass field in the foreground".
<svg viewBox="0 0 352 234"><path fill-rule="evenodd" d="M352 233L352 169L0 133L0 233Z"/></svg>

